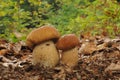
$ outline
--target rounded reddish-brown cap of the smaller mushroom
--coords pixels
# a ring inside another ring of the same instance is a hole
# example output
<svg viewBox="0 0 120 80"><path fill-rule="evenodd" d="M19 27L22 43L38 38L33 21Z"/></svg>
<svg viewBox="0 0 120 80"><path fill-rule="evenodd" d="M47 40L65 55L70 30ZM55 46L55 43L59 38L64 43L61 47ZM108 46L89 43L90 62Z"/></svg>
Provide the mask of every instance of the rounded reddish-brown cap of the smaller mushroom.
<svg viewBox="0 0 120 80"><path fill-rule="evenodd" d="M79 39L75 34L66 34L59 38L56 47L60 50L68 50L79 45Z"/></svg>

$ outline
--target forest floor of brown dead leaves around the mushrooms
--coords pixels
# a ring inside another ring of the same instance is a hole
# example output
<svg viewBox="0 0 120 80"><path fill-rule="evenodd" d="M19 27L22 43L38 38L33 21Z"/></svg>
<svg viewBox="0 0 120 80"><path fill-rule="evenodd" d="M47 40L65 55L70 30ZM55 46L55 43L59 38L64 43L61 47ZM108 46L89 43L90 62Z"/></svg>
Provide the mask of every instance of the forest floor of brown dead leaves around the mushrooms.
<svg viewBox="0 0 120 80"><path fill-rule="evenodd" d="M82 36L73 69L62 64L39 68L32 65L25 42L0 40L0 80L120 80L120 37Z"/></svg>

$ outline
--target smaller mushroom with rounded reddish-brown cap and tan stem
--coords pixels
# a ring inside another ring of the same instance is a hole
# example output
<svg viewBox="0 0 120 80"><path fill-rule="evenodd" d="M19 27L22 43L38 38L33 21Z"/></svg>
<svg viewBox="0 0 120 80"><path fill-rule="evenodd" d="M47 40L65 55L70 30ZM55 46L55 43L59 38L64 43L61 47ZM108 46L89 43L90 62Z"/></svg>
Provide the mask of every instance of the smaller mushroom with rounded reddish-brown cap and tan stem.
<svg viewBox="0 0 120 80"><path fill-rule="evenodd" d="M74 67L78 63L79 39L75 34L66 34L59 38L56 47L62 50L61 62L69 67Z"/></svg>

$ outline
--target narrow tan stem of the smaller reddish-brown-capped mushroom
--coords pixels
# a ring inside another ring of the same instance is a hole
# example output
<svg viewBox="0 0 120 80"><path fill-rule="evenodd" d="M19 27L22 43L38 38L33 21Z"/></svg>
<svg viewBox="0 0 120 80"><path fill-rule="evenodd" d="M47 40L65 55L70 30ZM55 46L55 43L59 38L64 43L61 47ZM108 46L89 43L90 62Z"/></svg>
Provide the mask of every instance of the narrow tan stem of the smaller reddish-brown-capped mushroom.
<svg viewBox="0 0 120 80"><path fill-rule="evenodd" d="M78 47L63 51L61 61L62 64L65 64L69 67L76 66L78 63Z"/></svg>

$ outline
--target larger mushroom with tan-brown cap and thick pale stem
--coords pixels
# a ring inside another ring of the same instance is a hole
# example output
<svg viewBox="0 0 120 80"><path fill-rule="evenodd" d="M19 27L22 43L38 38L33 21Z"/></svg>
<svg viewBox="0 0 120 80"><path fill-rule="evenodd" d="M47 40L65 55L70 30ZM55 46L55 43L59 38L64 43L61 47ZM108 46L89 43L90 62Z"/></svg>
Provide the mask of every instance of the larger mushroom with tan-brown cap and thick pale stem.
<svg viewBox="0 0 120 80"><path fill-rule="evenodd" d="M42 26L29 33L26 44L33 48L33 64L40 67L52 68L59 62L59 54L55 41L60 37L59 32L52 26Z"/></svg>

